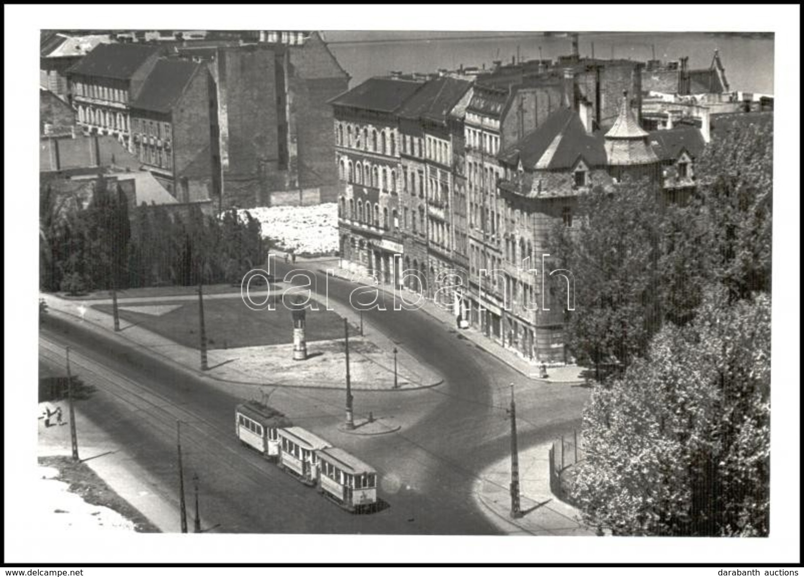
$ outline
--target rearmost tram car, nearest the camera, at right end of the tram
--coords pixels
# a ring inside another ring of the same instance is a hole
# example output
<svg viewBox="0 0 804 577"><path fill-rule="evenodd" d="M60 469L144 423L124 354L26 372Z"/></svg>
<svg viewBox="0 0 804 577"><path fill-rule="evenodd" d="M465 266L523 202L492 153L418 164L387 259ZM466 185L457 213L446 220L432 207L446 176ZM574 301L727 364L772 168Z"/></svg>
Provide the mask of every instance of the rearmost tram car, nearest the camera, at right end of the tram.
<svg viewBox="0 0 804 577"><path fill-rule="evenodd" d="M352 513L369 513L377 507L377 472L342 448L318 451L318 491Z"/></svg>

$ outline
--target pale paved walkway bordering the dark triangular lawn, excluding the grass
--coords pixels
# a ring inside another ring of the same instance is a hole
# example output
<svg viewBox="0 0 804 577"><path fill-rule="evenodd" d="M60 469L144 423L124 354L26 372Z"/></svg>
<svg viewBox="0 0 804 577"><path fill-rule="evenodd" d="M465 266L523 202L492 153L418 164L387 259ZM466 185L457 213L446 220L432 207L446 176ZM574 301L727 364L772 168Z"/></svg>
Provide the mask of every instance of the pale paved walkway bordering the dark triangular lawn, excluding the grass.
<svg viewBox="0 0 804 577"><path fill-rule="evenodd" d="M271 293L281 292L284 284L277 284ZM265 291L255 293L262 298ZM162 337L142 326L133 325L121 318L120 332L114 332L113 317L96 309L96 305L109 305L110 299L94 301L70 301L50 294L42 294L47 300L48 314L59 315L70 322L84 325L84 328L107 338L119 338L158 354L165 362L181 366L195 376L202 376L219 383L270 387L312 387L324 389L343 389L346 354L343 339L314 341L307 343L308 358L305 361L293 360L293 344L271 346L246 346L240 348L211 349L207 351L209 370L200 370L198 349L183 346ZM315 295L314 295L315 297ZM240 293L216 294L204 297L205 300L237 298ZM118 297L121 309L134 305L147 305L154 301L170 301L181 305L183 302L196 302L193 295L174 297ZM319 301L321 302L321 301ZM359 313L349 307L329 303L330 309L347 318L352 325L350 331L350 372L351 387L357 391L405 391L422 387L433 387L442 382L441 376L429 367L416 361L404 347L396 345L378 330L368 328L366 337L359 336ZM158 309L159 307L154 307ZM169 312L171 307L162 307ZM154 310L154 313L161 313ZM365 328L365 327L364 327ZM364 331L365 332L365 331ZM396 379L394 355L396 347Z"/></svg>

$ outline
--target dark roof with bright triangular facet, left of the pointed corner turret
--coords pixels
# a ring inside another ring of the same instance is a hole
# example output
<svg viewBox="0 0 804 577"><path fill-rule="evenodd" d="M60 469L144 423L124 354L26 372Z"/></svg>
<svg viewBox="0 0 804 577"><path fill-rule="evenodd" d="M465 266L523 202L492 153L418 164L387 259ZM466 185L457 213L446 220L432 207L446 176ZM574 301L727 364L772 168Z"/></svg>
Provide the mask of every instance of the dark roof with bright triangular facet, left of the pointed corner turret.
<svg viewBox="0 0 804 577"><path fill-rule="evenodd" d="M605 166L600 135L586 132L572 108L559 108L533 132L499 155L512 165L522 162L527 170L566 170L584 158L590 166Z"/></svg>

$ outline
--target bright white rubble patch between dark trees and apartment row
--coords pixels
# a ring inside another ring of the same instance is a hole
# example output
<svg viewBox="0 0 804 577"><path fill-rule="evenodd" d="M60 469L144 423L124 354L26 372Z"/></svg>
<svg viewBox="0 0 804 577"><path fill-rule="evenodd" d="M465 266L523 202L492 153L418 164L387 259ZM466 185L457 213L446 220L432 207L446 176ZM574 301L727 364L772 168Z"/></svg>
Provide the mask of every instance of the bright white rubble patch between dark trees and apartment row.
<svg viewBox="0 0 804 577"><path fill-rule="evenodd" d="M312 207L258 207L239 211L250 213L262 224L263 238L272 239L280 248L317 256L338 250L338 205Z"/></svg>

